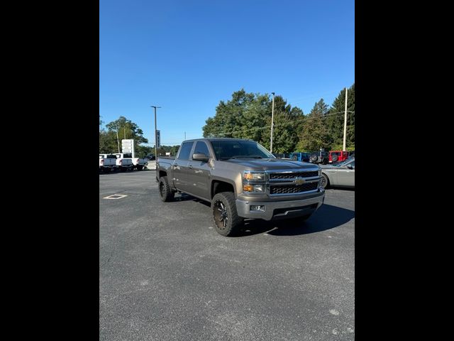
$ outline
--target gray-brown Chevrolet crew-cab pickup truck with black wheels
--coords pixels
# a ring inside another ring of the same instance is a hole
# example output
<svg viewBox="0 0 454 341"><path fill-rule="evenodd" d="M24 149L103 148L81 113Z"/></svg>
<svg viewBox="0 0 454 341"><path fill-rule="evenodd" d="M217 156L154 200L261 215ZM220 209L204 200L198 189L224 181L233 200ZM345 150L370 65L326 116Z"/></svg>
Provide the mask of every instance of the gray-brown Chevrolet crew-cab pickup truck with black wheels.
<svg viewBox="0 0 454 341"><path fill-rule="evenodd" d="M244 139L183 141L175 159L157 159L156 180L164 202L175 193L211 202L223 236L236 234L244 218L306 220L325 199L318 165L279 160Z"/></svg>

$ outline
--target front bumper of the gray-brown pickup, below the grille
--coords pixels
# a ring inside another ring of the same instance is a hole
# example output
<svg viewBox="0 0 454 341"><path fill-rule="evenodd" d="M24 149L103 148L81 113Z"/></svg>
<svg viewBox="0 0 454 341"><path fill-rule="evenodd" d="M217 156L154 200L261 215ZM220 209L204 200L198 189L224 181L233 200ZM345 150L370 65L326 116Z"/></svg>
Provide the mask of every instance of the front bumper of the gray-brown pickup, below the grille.
<svg viewBox="0 0 454 341"><path fill-rule="evenodd" d="M325 191L323 190L319 195L299 200L256 202L237 199L236 210L238 215L243 218L285 219L311 215L323 205L324 201ZM260 207L259 210L254 210L258 207Z"/></svg>

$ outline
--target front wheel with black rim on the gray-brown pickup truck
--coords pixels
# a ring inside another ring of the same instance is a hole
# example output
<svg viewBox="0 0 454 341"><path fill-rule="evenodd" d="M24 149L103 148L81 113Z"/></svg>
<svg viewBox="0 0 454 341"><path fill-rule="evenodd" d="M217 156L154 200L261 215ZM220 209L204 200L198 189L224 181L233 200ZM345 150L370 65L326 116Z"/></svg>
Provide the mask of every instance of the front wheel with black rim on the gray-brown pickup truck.
<svg viewBox="0 0 454 341"><path fill-rule="evenodd" d="M236 211L235 195L231 192L223 192L214 195L211 200L214 227L218 234L231 237L238 232L243 218L238 217Z"/></svg>

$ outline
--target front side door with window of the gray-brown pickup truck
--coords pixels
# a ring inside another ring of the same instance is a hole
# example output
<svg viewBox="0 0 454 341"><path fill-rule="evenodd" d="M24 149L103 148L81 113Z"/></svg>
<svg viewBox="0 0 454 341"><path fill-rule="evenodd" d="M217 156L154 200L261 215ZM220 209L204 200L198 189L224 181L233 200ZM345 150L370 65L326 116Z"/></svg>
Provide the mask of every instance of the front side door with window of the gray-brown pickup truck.
<svg viewBox="0 0 454 341"><path fill-rule="evenodd" d="M194 151L189 156L189 166L187 171L188 192L198 197L210 198L209 175L210 166L207 162L192 160L192 154L204 153L206 156L213 157L209 152L208 146L204 141L197 141Z"/></svg>

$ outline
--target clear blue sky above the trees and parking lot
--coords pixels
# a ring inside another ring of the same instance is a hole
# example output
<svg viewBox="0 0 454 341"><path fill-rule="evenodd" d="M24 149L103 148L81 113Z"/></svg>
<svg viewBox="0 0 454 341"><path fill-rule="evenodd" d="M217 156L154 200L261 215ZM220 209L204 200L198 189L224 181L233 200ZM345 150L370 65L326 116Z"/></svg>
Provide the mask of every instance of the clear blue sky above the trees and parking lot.
<svg viewBox="0 0 454 341"><path fill-rule="evenodd" d="M100 0L99 114L154 145L202 136L219 101L275 92L309 114L355 82L353 0Z"/></svg>

